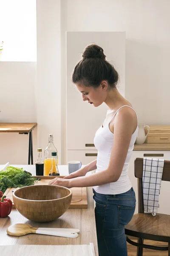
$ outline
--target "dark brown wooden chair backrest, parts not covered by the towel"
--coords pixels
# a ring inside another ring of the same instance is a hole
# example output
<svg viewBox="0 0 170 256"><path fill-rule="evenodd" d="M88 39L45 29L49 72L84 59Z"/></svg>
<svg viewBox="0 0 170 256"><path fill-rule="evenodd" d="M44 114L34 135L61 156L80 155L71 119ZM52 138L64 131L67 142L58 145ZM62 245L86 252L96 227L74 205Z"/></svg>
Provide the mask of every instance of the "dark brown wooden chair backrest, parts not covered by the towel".
<svg viewBox="0 0 170 256"><path fill-rule="evenodd" d="M138 178L138 212L144 212L143 202L143 158L135 159L135 177ZM162 180L170 181L170 161L164 160L164 169L162 173Z"/></svg>

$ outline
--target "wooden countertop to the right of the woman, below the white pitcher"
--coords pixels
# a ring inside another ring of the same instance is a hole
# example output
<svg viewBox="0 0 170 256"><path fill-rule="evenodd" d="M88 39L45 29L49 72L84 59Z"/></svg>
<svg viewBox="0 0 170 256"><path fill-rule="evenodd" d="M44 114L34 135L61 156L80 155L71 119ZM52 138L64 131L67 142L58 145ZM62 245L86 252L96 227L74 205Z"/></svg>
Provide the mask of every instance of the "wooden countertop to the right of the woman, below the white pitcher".
<svg viewBox="0 0 170 256"><path fill-rule="evenodd" d="M170 150L170 143L144 143L141 145L134 145L133 150L162 150L168 151Z"/></svg>

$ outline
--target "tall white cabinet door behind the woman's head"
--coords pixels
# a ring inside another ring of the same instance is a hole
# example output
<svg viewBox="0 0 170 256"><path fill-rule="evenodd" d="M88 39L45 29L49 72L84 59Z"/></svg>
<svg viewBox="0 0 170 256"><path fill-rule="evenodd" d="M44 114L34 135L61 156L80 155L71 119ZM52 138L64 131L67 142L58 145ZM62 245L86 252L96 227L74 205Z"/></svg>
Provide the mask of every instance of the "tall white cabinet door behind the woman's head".
<svg viewBox="0 0 170 256"><path fill-rule="evenodd" d="M71 82L76 64L82 59L82 51L91 42L104 49L107 60L119 73L118 90L125 95L125 32L67 32L67 150L95 150L92 145L97 129L105 119L108 107L105 103L95 108L82 101L82 93Z"/></svg>

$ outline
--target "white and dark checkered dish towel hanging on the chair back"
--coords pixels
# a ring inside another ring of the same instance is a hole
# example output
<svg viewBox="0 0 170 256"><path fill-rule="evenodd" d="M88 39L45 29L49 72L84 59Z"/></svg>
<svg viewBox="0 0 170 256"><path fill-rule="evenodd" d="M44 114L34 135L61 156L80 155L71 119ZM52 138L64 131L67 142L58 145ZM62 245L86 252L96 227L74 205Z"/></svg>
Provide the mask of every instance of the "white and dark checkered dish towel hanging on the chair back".
<svg viewBox="0 0 170 256"><path fill-rule="evenodd" d="M164 159L146 158L143 160L143 199L144 212L156 215L159 208L159 194Z"/></svg>

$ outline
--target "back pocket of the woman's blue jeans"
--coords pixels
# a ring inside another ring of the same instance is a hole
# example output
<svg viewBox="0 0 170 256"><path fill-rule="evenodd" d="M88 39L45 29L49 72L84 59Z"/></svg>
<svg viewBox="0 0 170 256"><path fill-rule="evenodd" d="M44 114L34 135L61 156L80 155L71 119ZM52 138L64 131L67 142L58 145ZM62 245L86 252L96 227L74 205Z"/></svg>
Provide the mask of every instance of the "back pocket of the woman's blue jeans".
<svg viewBox="0 0 170 256"><path fill-rule="evenodd" d="M119 211L119 228L124 229L125 225L127 225L135 212L136 205L127 207L127 206L118 206Z"/></svg>

